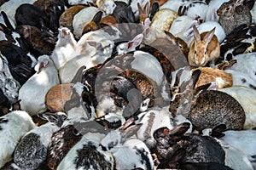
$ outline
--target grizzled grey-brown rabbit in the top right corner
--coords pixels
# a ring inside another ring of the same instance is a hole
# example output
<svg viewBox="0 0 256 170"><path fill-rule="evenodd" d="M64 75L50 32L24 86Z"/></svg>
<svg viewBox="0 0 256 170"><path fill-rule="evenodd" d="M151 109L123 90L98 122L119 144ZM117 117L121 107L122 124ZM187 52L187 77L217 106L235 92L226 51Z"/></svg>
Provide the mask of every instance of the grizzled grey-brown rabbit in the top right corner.
<svg viewBox="0 0 256 170"><path fill-rule="evenodd" d="M226 35L230 34L236 27L246 24L251 25L252 14L244 0L230 0L223 3L217 10L218 22L223 26Z"/></svg>

